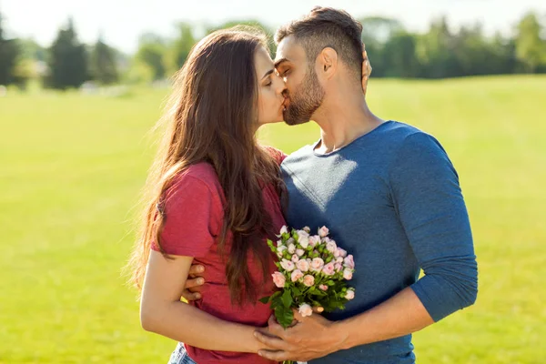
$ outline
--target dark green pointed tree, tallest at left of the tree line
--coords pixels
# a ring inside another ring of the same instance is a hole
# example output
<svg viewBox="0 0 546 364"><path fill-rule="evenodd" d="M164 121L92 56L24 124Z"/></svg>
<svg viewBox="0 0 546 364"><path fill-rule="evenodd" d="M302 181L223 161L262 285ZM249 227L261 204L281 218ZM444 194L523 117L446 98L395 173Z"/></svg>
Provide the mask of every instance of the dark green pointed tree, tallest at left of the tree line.
<svg viewBox="0 0 546 364"><path fill-rule="evenodd" d="M58 89L79 87L87 79L86 47L77 40L72 19L66 29L60 29L55 42L49 48L50 74L46 86Z"/></svg>

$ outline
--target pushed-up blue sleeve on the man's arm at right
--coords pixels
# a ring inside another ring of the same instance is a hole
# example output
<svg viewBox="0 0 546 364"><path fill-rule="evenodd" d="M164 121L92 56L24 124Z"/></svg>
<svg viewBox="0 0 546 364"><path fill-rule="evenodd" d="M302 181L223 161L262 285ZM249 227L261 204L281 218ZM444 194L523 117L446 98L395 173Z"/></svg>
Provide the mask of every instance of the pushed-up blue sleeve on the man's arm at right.
<svg viewBox="0 0 546 364"><path fill-rule="evenodd" d="M411 286L438 321L474 303L478 267L459 177L440 143L407 136L390 168L394 205L424 276Z"/></svg>

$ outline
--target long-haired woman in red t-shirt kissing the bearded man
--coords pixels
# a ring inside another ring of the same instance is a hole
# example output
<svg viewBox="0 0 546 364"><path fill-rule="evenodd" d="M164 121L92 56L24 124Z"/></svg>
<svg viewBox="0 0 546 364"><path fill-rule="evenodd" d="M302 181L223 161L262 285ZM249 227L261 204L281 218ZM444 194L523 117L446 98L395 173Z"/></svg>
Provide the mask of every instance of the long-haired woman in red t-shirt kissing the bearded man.
<svg viewBox="0 0 546 364"><path fill-rule="evenodd" d="M177 75L132 257L143 328L185 343L173 362L271 363L253 332L271 314L258 298L274 290L265 240L285 224L283 155L256 131L282 121L284 89L266 37L238 29L204 38ZM206 298L188 305L192 262L207 267Z"/></svg>

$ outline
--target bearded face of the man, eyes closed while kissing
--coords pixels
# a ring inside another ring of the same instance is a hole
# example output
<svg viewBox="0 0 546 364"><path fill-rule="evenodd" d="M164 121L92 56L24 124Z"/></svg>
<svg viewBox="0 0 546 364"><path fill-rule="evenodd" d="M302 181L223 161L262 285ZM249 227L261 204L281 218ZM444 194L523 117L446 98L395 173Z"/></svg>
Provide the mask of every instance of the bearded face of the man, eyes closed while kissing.
<svg viewBox="0 0 546 364"><path fill-rule="evenodd" d="M284 120L288 125L307 123L324 99L324 89L315 72L315 59L307 59L305 50L292 35L277 48L275 66L287 86Z"/></svg>

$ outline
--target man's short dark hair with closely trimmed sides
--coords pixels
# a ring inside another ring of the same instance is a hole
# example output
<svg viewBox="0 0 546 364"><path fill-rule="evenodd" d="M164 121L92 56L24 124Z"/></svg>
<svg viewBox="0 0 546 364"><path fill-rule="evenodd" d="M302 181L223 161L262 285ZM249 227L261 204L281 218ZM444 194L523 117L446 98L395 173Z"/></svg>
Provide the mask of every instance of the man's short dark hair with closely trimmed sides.
<svg viewBox="0 0 546 364"><path fill-rule="evenodd" d="M332 7L314 7L308 15L281 26L275 34L278 44L293 35L303 46L308 61L317 59L322 49L331 47L351 73L362 77L362 25L349 13Z"/></svg>

